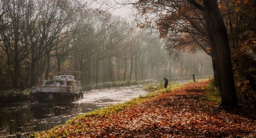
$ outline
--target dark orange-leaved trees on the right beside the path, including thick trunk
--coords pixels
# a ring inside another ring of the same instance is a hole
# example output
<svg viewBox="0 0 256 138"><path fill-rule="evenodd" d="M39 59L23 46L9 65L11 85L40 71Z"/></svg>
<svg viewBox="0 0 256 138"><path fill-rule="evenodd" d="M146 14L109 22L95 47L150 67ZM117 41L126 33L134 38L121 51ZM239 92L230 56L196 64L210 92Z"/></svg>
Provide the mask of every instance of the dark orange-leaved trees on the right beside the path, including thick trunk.
<svg viewBox="0 0 256 138"><path fill-rule="evenodd" d="M235 83L238 97L256 105L255 0L141 0L135 6L146 20L139 26L156 24L169 50L196 43L212 57L221 105L237 106Z"/></svg>

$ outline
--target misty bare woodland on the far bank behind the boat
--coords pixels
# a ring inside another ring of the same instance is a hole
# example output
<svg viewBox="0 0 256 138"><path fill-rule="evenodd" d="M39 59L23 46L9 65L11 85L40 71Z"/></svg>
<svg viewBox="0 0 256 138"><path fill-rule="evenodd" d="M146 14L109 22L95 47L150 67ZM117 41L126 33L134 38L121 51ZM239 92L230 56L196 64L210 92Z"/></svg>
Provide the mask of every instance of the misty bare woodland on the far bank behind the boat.
<svg viewBox="0 0 256 138"><path fill-rule="evenodd" d="M212 75L199 49L178 56L135 23L73 0L1 0L0 87L29 88L57 71L82 71L84 85Z"/></svg>

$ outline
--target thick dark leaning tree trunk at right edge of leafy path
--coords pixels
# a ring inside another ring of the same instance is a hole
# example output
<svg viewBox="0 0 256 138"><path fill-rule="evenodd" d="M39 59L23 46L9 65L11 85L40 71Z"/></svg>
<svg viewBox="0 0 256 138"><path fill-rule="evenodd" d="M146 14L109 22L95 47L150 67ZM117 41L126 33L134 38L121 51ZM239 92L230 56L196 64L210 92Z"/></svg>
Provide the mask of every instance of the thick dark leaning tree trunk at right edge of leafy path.
<svg viewBox="0 0 256 138"><path fill-rule="evenodd" d="M217 0L203 0L205 14L209 19L211 30L216 42L221 75L221 105L237 106L237 97L231 62L231 52L227 28L218 9Z"/></svg>

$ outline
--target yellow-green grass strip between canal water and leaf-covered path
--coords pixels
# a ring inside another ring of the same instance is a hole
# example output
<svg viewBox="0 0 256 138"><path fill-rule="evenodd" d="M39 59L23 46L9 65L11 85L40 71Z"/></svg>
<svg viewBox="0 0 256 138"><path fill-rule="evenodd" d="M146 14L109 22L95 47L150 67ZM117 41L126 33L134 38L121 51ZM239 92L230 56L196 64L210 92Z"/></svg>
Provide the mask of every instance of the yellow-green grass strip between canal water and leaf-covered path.
<svg viewBox="0 0 256 138"><path fill-rule="evenodd" d="M81 123L80 120L85 120L88 117L100 117L101 118L106 115L114 114L114 113L120 112L124 109L127 109L131 106L135 106L135 105L141 104L142 102L149 101L152 98L159 96L164 92L170 92L174 88L183 87L183 86L184 86L183 84L177 84L177 83L168 85L167 88L163 88L162 84L156 84L156 85L151 84L151 85L144 86L144 89L147 89L147 91L148 91L147 95L133 98L132 100L126 101L124 103L119 103L119 104L108 106L105 108L96 109L96 110L93 110L93 111L85 113L85 114L77 115L76 118L67 120L66 123L63 125L56 126L50 130L47 130L47 131L44 131L41 133L31 133L29 135L29 138L56 138L56 137L64 136L67 133L69 133L68 130L63 129L63 131L60 132L57 129L65 128L65 125L68 125L68 124L75 124L77 126L77 128L80 128L79 130L77 130L77 132L90 131L90 128L83 127L83 124Z"/></svg>

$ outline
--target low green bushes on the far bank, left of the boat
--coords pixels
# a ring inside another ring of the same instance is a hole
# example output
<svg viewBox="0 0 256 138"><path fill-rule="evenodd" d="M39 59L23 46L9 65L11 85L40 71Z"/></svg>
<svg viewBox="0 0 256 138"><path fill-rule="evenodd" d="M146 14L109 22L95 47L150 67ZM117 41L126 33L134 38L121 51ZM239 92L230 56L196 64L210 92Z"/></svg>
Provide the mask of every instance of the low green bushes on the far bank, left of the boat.
<svg viewBox="0 0 256 138"><path fill-rule="evenodd" d="M31 89L25 89L23 91L17 89L0 91L0 103L26 100L30 97L31 92Z"/></svg>

